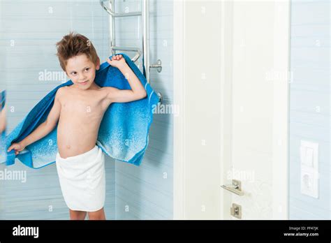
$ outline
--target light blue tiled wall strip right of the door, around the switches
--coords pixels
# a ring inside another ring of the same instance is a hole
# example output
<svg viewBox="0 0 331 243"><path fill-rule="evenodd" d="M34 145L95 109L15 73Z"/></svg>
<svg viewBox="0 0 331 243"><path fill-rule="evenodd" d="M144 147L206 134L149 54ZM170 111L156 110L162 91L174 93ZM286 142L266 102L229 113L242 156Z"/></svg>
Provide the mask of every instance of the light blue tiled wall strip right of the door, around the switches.
<svg viewBox="0 0 331 243"><path fill-rule="evenodd" d="M291 1L290 219L330 216L330 1ZM319 197L300 193L300 140L318 143Z"/></svg>

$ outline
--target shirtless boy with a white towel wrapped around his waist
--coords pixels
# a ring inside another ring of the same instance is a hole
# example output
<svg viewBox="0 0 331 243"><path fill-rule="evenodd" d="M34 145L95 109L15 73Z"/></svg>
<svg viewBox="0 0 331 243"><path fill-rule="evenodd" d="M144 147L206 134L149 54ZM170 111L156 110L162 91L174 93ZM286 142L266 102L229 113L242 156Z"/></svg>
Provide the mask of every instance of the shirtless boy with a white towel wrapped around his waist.
<svg viewBox="0 0 331 243"><path fill-rule="evenodd" d="M111 103L136 101L147 93L122 55L107 61L119 68L131 89L98 87L94 78L100 59L85 36L73 33L64 36L57 43L57 56L73 85L57 90L46 121L24 140L13 143L8 152L15 149L18 154L50 133L59 121L56 165L70 219L85 219L87 213L89 219L105 219L105 155L96 146L98 128Z"/></svg>

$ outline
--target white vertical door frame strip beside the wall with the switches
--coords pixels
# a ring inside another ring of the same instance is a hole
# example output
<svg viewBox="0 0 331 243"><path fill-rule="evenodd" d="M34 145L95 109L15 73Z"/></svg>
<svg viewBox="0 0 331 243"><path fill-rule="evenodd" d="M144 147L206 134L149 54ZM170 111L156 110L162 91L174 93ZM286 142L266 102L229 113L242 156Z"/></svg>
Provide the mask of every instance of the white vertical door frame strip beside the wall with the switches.
<svg viewBox="0 0 331 243"><path fill-rule="evenodd" d="M272 219L289 219L290 0L274 4L274 69L286 75L274 81Z"/></svg>

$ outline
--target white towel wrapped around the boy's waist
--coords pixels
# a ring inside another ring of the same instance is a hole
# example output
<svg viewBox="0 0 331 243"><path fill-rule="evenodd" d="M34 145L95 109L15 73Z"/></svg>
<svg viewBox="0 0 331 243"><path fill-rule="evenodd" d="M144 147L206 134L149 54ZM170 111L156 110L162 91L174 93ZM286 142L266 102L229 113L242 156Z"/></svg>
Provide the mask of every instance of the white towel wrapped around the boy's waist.
<svg viewBox="0 0 331 243"><path fill-rule="evenodd" d="M105 204L105 154L100 147L61 158L57 174L66 205L72 210L95 212Z"/></svg>

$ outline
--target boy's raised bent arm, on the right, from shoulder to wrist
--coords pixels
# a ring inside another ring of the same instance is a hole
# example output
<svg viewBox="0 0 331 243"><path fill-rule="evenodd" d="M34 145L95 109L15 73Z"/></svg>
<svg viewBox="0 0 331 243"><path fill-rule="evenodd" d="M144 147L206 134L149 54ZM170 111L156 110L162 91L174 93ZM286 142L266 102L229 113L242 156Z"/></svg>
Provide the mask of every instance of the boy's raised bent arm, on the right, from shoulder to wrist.
<svg viewBox="0 0 331 243"><path fill-rule="evenodd" d="M124 62L119 66L119 71L123 73L126 80L130 84L131 89L117 89L115 87L107 87L108 96L111 102L124 103L130 101L140 100L147 96L145 88L142 86L138 77L133 73L132 69Z"/></svg>

